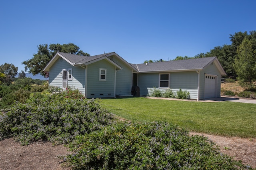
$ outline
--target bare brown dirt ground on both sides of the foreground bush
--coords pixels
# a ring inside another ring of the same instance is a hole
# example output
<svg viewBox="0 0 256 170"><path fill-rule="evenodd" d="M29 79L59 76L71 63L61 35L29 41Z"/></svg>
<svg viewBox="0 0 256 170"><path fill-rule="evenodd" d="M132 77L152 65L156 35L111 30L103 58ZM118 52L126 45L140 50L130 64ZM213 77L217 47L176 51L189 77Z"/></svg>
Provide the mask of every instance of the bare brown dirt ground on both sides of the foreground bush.
<svg viewBox="0 0 256 170"><path fill-rule="evenodd" d="M220 147L222 153L242 160L256 168L256 139L220 137L191 132L191 135L204 135ZM70 153L63 145L36 142L21 146L14 139L0 141L0 170L70 170L61 166L58 156Z"/></svg>

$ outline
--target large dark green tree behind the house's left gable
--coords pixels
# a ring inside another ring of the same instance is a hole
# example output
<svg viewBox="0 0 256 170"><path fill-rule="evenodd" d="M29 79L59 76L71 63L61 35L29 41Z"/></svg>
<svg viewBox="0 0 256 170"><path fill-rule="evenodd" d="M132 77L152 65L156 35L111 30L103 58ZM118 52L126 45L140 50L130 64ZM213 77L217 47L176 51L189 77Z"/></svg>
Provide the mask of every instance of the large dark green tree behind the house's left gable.
<svg viewBox="0 0 256 170"><path fill-rule="evenodd" d="M33 75L41 74L47 77L47 72L44 72L44 67L49 63L49 61L54 57L57 52L70 53L75 55L90 56L88 53L84 53L77 45L73 43L69 44L41 44L37 46L38 52L33 54L34 57L27 61L23 61L22 64L25 65L25 71L32 73Z"/></svg>

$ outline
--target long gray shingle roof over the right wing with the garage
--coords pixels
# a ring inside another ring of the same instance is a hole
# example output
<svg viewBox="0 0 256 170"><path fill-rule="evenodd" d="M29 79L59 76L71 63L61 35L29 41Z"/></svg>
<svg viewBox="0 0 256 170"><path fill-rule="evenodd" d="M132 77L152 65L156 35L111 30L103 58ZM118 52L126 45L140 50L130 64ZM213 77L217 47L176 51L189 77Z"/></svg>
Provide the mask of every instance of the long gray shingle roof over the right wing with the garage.
<svg viewBox="0 0 256 170"><path fill-rule="evenodd" d="M132 64L139 72L153 71L178 71L178 70L200 70L214 61L216 57L205 57L198 59L187 59L178 61L164 61L148 64Z"/></svg>

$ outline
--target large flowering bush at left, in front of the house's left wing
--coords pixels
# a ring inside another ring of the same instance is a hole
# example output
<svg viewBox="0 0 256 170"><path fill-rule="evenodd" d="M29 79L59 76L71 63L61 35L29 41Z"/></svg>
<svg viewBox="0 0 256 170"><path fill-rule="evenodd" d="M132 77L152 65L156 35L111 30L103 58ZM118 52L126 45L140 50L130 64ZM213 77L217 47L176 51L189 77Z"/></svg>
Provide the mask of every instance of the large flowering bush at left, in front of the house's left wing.
<svg viewBox="0 0 256 170"><path fill-rule="evenodd" d="M30 98L26 104L17 103L5 111L0 115L0 139L15 137L23 145L34 141L69 143L77 135L92 133L115 121L98 99L70 99L66 93Z"/></svg>

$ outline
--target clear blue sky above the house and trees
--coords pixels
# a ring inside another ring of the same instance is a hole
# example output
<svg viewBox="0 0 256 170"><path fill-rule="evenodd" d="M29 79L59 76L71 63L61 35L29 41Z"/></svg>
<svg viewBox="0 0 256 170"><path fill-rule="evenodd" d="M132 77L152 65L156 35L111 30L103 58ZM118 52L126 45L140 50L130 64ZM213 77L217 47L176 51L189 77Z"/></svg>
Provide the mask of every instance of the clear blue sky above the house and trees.
<svg viewBox="0 0 256 170"><path fill-rule="evenodd" d="M74 43L129 63L194 57L256 30L255 0L2 0L0 64L18 72L40 44Z"/></svg>

